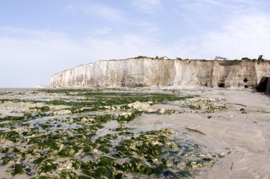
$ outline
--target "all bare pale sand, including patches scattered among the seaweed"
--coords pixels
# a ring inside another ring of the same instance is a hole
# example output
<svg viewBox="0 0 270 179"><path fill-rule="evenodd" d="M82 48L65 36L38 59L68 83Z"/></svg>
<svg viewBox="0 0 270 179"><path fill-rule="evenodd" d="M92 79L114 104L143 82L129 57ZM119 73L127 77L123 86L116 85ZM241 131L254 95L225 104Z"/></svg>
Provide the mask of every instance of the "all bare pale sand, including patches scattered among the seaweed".
<svg viewBox="0 0 270 179"><path fill-rule="evenodd" d="M69 98L70 100L78 101L83 99L81 96L66 96L61 93L49 93L49 95L43 91L36 93L33 89L24 90L25 92L23 95L17 93L18 91L21 91L21 89L18 89L16 95L13 96L9 96L9 93L6 91L14 90L1 89L0 92L3 94L1 98L34 99L43 101L55 98L64 100ZM34 92L32 93L31 91ZM144 92L146 90L137 89L134 91ZM167 94L179 93L181 96L195 97L185 100L172 100L166 103L156 103L153 105L139 103L139 105L141 105L139 106L140 110L143 110L142 115L135 117L134 120L126 122L125 127L136 129L133 131L134 133L166 128L173 129L178 132L175 134L175 137L183 140L183 143L193 141L199 146L205 147L206 152L222 154L222 152L224 153L228 150L232 151L218 158L213 166L208 165L202 168L195 167L194 171L196 174L191 176L191 178L270 178L270 96L249 89L229 90L225 88L149 88L147 92L161 92ZM119 93L123 92L120 91ZM29 94L31 94L31 96ZM211 103L205 103L204 100L210 101ZM23 111L33 112L33 109L30 109L34 106L41 108L41 106L44 105L42 102L35 104L28 103L27 101L27 103L22 101L16 103L13 102L6 101L1 103L0 113L2 116L11 114L13 111L16 111L15 114L19 116ZM145 104L145 106L142 104ZM209 105L215 105L215 108L220 110L209 112ZM133 109L136 108L134 106L132 107ZM200 107L200 110L197 109L198 106ZM53 111L53 116L56 117L60 116L63 118L65 117L63 115L70 114L70 110L66 110L68 108L67 105L50 104L48 107ZM163 112L161 112L161 109ZM170 113L170 110L173 112ZM164 111L170 114L164 113ZM99 113L101 112L103 111L100 111ZM104 112L113 115L117 112L120 112L119 114L121 114L121 111L116 108L107 108ZM78 113L77 116L80 117L80 114L81 113ZM85 114L89 115L89 112L82 112L82 115ZM50 120L48 120L49 118L50 117L37 118L36 122L40 121L48 123L50 122ZM4 122L2 123L4 124ZM53 124L57 125L56 123L50 123L52 126ZM65 127L63 122L61 124ZM37 123L37 125L42 124ZM72 127L72 125L72 122L68 122L67 126ZM83 126L84 122L79 125ZM96 137L93 137L92 139L97 139L105 134L111 134L118 125L119 123L117 120L104 123L104 128L97 130ZM16 131L16 129L13 130ZM26 131L27 130L28 129L26 129ZM53 131L55 129L51 128L51 130ZM50 132L50 130L47 130L46 132ZM118 140L126 139L123 137L124 136L119 137ZM113 146L114 143L115 145L119 144L117 142L112 142ZM3 144L0 144L1 147L12 145L14 144L9 144L6 141L4 141ZM204 149L202 149L202 151L203 150ZM57 153L55 153L55 155L56 154ZM79 154L80 153L77 155ZM28 163L31 163L31 160L32 159L29 159ZM8 169L7 166L0 166L0 178L31 178L24 174L12 177L9 173L5 172ZM53 172L47 174L55 175ZM133 176L126 176L127 178L133 178ZM163 178L166 178L166 176L163 176Z"/></svg>

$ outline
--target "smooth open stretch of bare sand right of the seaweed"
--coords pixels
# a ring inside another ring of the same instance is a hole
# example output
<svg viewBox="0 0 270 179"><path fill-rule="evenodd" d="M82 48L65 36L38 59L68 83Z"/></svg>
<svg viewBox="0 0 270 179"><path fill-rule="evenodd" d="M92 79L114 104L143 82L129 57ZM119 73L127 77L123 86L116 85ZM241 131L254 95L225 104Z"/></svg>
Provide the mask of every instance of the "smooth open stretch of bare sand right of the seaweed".
<svg viewBox="0 0 270 179"><path fill-rule="evenodd" d="M201 114L171 115L168 122L198 129L209 137L236 149L220 163L196 178L270 178L270 98L252 91L194 91L206 98L222 98L229 105L209 120ZM247 114L242 114L244 108ZM218 147L216 143L215 147Z"/></svg>

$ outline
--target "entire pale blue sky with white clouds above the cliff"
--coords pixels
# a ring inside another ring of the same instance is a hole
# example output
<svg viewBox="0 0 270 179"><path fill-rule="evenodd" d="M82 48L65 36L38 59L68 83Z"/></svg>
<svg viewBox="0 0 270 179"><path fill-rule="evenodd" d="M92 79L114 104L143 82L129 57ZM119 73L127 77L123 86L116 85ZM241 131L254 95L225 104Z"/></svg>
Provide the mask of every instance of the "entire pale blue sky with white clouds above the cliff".
<svg viewBox="0 0 270 179"><path fill-rule="evenodd" d="M0 0L0 88L139 55L270 59L269 0Z"/></svg>

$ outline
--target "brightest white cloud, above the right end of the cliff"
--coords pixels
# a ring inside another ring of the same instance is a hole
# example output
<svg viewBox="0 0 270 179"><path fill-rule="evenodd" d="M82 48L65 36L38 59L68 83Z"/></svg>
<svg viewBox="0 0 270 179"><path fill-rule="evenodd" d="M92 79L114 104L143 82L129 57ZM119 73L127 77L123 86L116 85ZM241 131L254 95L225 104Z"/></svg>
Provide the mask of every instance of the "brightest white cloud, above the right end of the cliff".
<svg viewBox="0 0 270 179"><path fill-rule="evenodd" d="M229 58L252 57L264 54L270 58L270 16L252 14L234 17L222 31L206 33L202 49L209 54L222 54Z"/></svg>

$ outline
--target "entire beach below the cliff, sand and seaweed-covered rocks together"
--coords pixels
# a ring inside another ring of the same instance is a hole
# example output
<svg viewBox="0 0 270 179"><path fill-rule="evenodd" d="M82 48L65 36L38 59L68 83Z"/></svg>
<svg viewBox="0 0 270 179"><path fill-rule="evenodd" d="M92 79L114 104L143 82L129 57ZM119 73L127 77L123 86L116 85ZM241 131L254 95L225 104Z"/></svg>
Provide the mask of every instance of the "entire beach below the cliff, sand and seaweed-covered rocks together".
<svg viewBox="0 0 270 179"><path fill-rule="evenodd" d="M270 177L270 100L263 93L175 87L0 93L2 178ZM104 157L111 164L100 163Z"/></svg>

